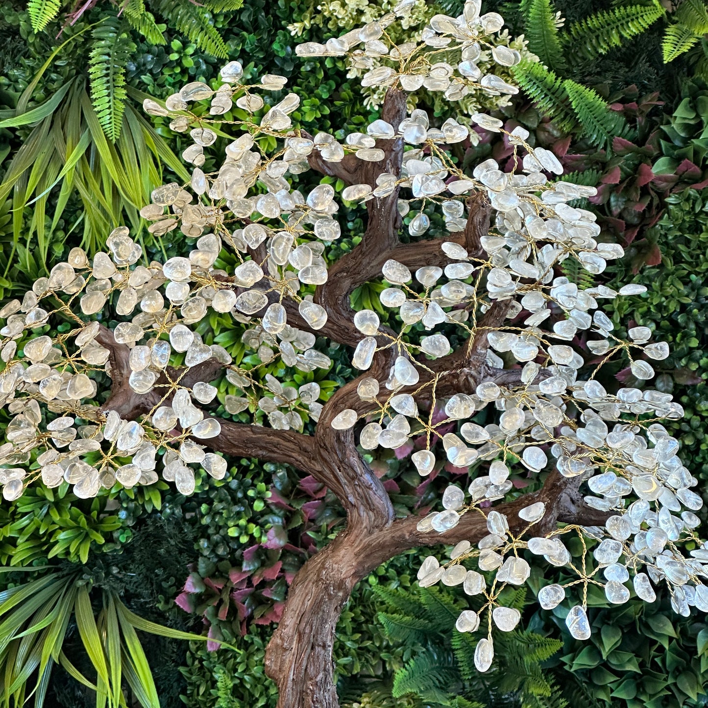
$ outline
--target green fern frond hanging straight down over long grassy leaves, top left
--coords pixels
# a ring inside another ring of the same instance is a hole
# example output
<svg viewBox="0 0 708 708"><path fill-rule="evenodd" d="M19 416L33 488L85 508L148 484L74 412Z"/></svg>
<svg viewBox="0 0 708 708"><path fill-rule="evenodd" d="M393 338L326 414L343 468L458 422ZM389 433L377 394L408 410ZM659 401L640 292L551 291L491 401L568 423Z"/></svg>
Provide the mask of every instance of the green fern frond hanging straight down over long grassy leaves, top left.
<svg viewBox="0 0 708 708"><path fill-rule="evenodd" d="M117 17L106 18L93 29L89 55L91 103L103 132L112 142L118 140L125 111L125 65L135 45Z"/></svg>

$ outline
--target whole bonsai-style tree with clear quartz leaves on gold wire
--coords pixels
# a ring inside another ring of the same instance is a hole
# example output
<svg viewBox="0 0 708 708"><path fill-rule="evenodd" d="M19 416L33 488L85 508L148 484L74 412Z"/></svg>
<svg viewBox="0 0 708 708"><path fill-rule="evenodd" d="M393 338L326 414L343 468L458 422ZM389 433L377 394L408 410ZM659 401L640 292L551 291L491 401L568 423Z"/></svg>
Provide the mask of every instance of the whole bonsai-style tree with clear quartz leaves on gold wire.
<svg viewBox="0 0 708 708"><path fill-rule="evenodd" d="M365 84L387 86L381 118L343 142L294 129L289 114L299 98L281 93L285 79L266 75L246 85L237 62L222 69L217 90L192 83L164 106L146 101L149 113L171 117L173 130L190 131L194 144L184 157L194 167L190 185L156 189L142 216L157 236L181 229L196 239L193 250L148 263L120 227L107 253L89 261L73 249L0 312L0 394L12 416L0 447L6 500L36 479L50 487L66 481L88 498L161 475L189 494L196 468L226 474L222 455L292 464L338 496L346 530L297 573L268 647L266 668L283 708L337 705L338 615L361 578L413 547L453 546L446 561L424 561L422 586L440 581L483 596L481 612L465 610L457 622L460 632L481 632L480 671L493 660L495 632L520 620L500 593L529 577L524 554L574 574L566 586L542 588L538 601L549 609L571 593L566 622L578 639L590 636L590 584L621 604L630 588L651 602L653 586L666 583L676 612L708 610L708 547L695 534L702 500L690 489L697 481L678 442L661 425L683 411L668 394L607 392L596 379L607 360L626 353L634 377L649 381L647 358L668 355L666 343L649 343L646 327L629 329L627 341L616 336L600 307L643 288L581 290L558 275L569 257L599 274L622 255L598 239L592 213L568 203L594 190L557 181L559 161L530 147L520 128L506 133L516 171L489 159L465 173L450 146L468 139L469 128L452 118L435 127L422 110L407 115L406 92L421 86L452 103L480 86L515 92L477 68L485 52L501 64L518 60L486 44L503 20L480 16L479 5L469 0L457 18L433 17L417 43L387 41L387 26L411 6L404 0L341 38L298 47L304 57L349 57L367 69ZM262 111L262 92L282 98ZM208 113L190 110L201 101L210 101ZM219 118L232 102L250 118ZM472 121L505 132L496 118ZM238 135L223 164L204 173L205 148L230 130ZM307 170L338 178L347 185L341 198L367 207L362 240L333 263L328 246L341 235L336 193L329 183L301 193L294 185ZM426 238L438 207L448 233ZM232 272L215 267L222 249L239 262ZM381 278L395 329L350 307L356 287ZM244 346L263 365L278 358L286 372L326 369L320 337L350 347L361 375L325 403L314 382L296 388L263 379L258 367L239 367L226 350L202 342L196 325L212 311L246 323ZM41 333L59 321L56 336ZM109 329L106 321L119 324ZM106 374L110 393L98 396ZM253 422L212 415L212 383L222 376L240 392L227 396L227 411L247 412ZM482 409L496 422L474 423ZM443 435L450 423L457 432ZM467 491L449 486L424 518L396 518L362 450L399 448L413 435L426 440L411 457L421 476L449 461L469 468L472 483ZM514 468L542 485L513 491ZM582 563L571 558L568 535L580 537Z"/></svg>

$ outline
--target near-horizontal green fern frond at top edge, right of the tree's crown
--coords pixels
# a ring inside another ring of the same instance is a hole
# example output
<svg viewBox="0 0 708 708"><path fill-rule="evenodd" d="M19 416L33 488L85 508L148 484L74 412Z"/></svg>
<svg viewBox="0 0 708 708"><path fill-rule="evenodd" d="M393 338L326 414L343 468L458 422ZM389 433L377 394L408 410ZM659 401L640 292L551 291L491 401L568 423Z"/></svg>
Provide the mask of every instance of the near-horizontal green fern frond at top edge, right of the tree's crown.
<svg viewBox="0 0 708 708"><path fill-rule="evenodd" d="M619 47L623 39L646 31L663 14L664 8L656 0L651 5L619 6L574 22L561 36L571 56L572 52L579 52L594 59Z"/></svg>

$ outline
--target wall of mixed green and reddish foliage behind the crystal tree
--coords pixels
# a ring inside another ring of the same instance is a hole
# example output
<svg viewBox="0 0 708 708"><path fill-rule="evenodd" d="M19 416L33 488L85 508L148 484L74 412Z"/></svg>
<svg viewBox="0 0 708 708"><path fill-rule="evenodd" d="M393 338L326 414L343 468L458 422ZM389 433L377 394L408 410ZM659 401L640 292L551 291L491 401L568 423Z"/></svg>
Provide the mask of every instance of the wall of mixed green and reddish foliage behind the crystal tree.
<svg viewBox="0 0 708 708"><path fill-rule="evenodd" d="M318 6L326 15L319 21ZM461 6L460 0L440 0L436 7L457 13ZM701 24L702 2L684 0L681 7L666 13L651 0L611 8L602 0L485 3L486 10L503 14L511 35L526 33L529 50L546 67L524 62L516 78L525 93L496 115L508 127L525 125L535 144L563 155L571 178L598 186L598 198L583 206L595 210L608 238L627 249L603 282L633 280L649 288L644 297L618 303L615 319L624 327L649 326L670 344L656 385L673 391L685 407L675 435L704 483L708 26ZM119 223L131 225L150 256L181 253L188 244L174 232L169 241L154 241L137 214L154 185L179 178L183 169L183 139L161 118L142 114L145 95L165 98L188 81L215 82L225 59L239 59L248 75L288 77L302 98L293 118L305 130L356 130L376 117L341 60L295 57L296 42L336 34L331 28L358 21L360 8L316 0L212 1L205 7L160 0L128 8L123 16L108 2L93 4L65 25L72 8L58 0L31 0L29 11L18 0L0 3L0 183L13 180L9 188L0 186L0 297L23 292L74 245L100 248ZM560 31L556 11L566 18ZM293 38L289 25L302 33ZM26 164L14 162L22 146L43 144L47 136L54 152L40 156L35 150ZM488 156L508 161L508 146L492 138L481 135L479 145L459 155L462 164ZM304 179L307 186L317 176ZM87 208L92 194L101 198ZM350 249L362 232L361 212L345 212L343 219L345 236L333 256ZM581 275L572 263L565 268ZM358 306L376 308L377 292L376 284L362 288ZM210 316L200 333L239 358L240 327ZM319 383L331 390L352 373L348 352L332 347L327 353L333 368ZM627 376L622 363L609 372L608 385L615 376ZM220 382L219 401L229 392ZM6 422L0 418L0 426ZM429 506L437 489L459 480L444 470L419 489L405 460L391 455L372 464L401 514ZM141 617L181 631L208 631L236 646L212 651L215 646L144 634L162 708L274 707L263 657L287 584L342 525L336 499L312 479L300 479L287 466L233 459L224 480L198 480L190 498L164 482L134 490L117 486L88 501L74 498L67 485L35 485L17 503L0 506L0 563L35 569L37 577L47 565L71 569L96 588L93 598L99 591L115 593ZM610 609L604 595L590 593L593 639L581 643L566 632L568 604L547 612L534 602L532 595L557 579L547 569L544 577L534 569L526 596L509 598L523 609L525 634L501 644L489 677L479 678L464 649L472 638L450 629L449 610L423 612L435 603L443 610L459 604L459 593L417 588L420 561L411 552L377 569L343 612L334 660L346 706L674 708L708 700L702 617L676 617L666 596L651 605L633 599ZM9 573L2 582L26 579ZM406 617L418 618L417 633L401 631L406 622L411 630ZM67 656L78 657L76 668L89 675L91 664L80 649L70 623ZM88 707L95 697L57 667L47 704Z"/></svg>

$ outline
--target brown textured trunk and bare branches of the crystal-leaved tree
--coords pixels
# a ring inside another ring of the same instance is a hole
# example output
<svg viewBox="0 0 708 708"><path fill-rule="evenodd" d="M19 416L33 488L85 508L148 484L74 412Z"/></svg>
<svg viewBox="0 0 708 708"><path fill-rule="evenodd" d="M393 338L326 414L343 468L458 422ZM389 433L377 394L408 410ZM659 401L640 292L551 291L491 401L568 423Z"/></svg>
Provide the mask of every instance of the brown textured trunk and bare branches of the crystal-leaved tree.
<svg viewBox="0 0 708 708"><path fill-rule="evenodd" d="M382 118L398 127L405 115L404 94L389 89ZM386 154L382 163L347 156L341 163L332 164L322 160L317 153L312 154L309 161L313 169L341 178L348 184L366 183L373 187L382 172L400 174L403 156L402 139L379 140L377 147L384 149ZM356 346L362 335L353 324L350 295L363 283L380 278L382 266L389 258L404 263L411 270L423 265L444 267L449 262L438 240L414 244L399 242L401 219L396 207L397 198L396 190L387 198L367 202L368 223L361 243L333 263L327 282L316 288L314 299L326 308L329 318L324 328L316 331L318 335L346 346ZM477 195L468 200L467 206L467 227L462 232L450 234L447 240L464 246L472 258L484 257L481 237L489 229L489 205L484 195ZM265 259L265 250L253 252L251 256L261 262ZM222 280L229 282L228 278ZM284 304L291 324L311 329L299 316L297 303L286 299ZM409 389L409 392L416 391L421 407L430 403L433 382L438 398L457 392L472 392L483 381L495 381L506 387L520 383L520 370L500 370L486 364L486 332L498 328L507 312L508 303L493 304L477 322L472 341L447 357L426 361L430 372L421 372L421 382ZM379 337L381 345L389 341L384 336ZM173 382L178 381L187 387L197 381L209 382L217 378L223 368L215 360L190 370L168 367L150 394L138 395L131 391L127 382L130 375L127 346L116 343L113 333L105 327L99 332L98 342L110 351L113 378L111 393L103 408L116 410L123 418L137 418L149 413L156 405L168 404ZM397 355L399 352L395 347L379 350L372 367L362 376L386 380ZM312 436L220 420L220 435L198 441L227 455L290 463L331 489L346 510L346 530L310 558L295 576L282 619L268 645L266 672L278 684L280 708L338 706L331 656L336 624L354 586L367 573L408 549L454 544L462 539L474 543L487 532L486 518L479 511L463 515L457 527L445 535L418 531L418 516L395 518L384 486L356 449L353 430L334 430L330 424L332 418L346 408L355 409L360 414L370 411L371 404L361 401L356 393L359 381L356 379L346 384L331 396ZM384 389L381 400L384 401L388 394ZM205 411L205 415L208 414ZM512 531L520 531L527 524L518 517L518 511L531 503L543 501L547 513L532 529L537 535L545 535L557 523L603 524L607 514L584 503L578 484L577 479L565 479L554 471L536 493L503 503L495 509L508 516Z"/></svg>

